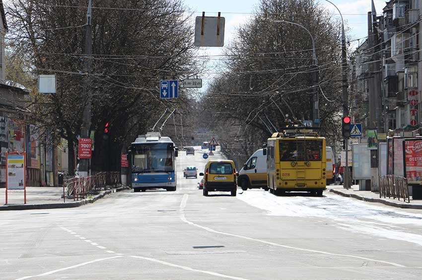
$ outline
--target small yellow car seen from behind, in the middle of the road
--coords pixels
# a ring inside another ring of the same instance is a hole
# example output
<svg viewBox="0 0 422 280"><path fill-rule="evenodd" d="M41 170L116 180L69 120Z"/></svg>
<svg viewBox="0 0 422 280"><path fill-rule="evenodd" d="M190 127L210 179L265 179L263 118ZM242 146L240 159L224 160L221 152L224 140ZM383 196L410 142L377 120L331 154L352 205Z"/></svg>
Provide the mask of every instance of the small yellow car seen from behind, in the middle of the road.
<svg viewBox="0 0 422 280"><path fill-rule="evenodd" d="M236 196L237 175L233 161L212 160L205 166L203 195L210 191L229 191L231 196Z"/></svg>

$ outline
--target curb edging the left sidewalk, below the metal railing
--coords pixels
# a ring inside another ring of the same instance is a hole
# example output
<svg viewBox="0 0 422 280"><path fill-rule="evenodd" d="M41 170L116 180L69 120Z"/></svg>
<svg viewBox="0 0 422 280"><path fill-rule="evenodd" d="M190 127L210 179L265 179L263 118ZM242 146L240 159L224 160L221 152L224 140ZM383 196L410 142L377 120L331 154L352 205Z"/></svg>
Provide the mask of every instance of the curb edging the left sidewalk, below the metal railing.
<svg viewBox="0 0 422 280"><path fill-rule="evenodd" d="M105 197L106 195L120 192L123 190L130 189L130 187L118 187L111 190L103 191L100 194L97 194L93 198L88 198L84 200L66 202L66 203L45 203L45 204L16 204L16 205L4 205L0 206L0 211L9 211L9 210L32 210L32 209L58 209L58 208L75 208L79 206L86 205L88 203L94 203L100 198Z"/></svg>

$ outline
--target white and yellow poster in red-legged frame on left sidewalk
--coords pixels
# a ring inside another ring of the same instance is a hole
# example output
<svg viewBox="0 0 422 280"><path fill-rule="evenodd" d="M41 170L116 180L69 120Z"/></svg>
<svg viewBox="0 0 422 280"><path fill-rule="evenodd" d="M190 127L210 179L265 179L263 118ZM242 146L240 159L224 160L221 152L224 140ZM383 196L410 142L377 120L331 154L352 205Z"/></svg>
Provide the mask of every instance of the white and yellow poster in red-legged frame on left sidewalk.
<svg viewBox="0 0 422 280"><path fill-rule="evenodd" d="M23 190L25 189L25 156L8 155L7 156L7 189Z"/></svg>

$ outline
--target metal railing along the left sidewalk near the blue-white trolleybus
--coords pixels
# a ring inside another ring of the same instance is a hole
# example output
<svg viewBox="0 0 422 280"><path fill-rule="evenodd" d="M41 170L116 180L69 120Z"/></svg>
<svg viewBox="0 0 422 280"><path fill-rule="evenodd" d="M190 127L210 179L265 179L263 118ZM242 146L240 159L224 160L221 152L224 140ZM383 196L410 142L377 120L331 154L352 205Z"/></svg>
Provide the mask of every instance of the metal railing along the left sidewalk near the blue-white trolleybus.
<svg viewBox="0 0 422 280"><path fill-rule="evenodd" d="M63 201L84 199L89 194L112 188L120 184L120 172L99 172L88 177L73 177L63 182Z"/></svg>

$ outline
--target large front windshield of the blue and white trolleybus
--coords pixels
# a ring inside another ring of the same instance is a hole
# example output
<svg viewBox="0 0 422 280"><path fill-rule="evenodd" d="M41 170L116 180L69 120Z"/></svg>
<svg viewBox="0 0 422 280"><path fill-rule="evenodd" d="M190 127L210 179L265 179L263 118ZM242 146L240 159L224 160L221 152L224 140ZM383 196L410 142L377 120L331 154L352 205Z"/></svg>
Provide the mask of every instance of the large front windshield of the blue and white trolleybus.
<svg viewBox="0 0 422 280"><path fill-rule="evenodd" d="M171 172L173 144L135 144L132 146L132 172Z"/></svg>

